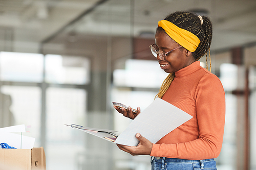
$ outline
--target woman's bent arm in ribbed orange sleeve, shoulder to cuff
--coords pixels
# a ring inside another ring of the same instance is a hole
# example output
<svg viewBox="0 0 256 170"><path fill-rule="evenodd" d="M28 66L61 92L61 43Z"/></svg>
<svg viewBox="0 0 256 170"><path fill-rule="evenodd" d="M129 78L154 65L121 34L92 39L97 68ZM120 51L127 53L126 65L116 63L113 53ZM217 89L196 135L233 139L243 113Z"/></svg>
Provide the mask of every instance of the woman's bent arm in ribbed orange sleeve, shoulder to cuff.
<svg viewBox="0 0 256 170"><path fill-rule="evenodd" d="M195 93L199 137L174 144L153 144L151 156L210 159L219 156L225 124L225 93L215 75L205 75Z"/></svg>

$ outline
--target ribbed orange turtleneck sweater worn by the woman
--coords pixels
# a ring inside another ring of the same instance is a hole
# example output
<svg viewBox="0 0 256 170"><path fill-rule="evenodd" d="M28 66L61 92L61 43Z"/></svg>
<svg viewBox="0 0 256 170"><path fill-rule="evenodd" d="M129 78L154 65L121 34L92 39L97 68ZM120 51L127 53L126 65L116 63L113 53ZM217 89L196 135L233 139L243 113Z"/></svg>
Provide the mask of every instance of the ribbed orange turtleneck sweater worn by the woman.
<svg viewBox="0 0 256 170"><path fill-rule="evenodd" d="M217 158L225 124L225 92L218 77L196 61L175 72L175 79L162 99L193 118L153 144L151 156Z"/></svg>

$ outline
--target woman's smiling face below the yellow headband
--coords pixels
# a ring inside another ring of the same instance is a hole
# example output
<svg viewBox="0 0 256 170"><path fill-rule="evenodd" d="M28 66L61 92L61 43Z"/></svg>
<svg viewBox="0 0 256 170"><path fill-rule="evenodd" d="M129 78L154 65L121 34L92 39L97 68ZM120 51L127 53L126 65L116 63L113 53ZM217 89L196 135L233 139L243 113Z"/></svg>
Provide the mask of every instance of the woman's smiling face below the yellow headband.
<svg viewBox="0 0 256 170"><path fill-rule="evenodd" d="M156 50L162 50L165 53L180 46L164 31L157 31L155 35L155 40L157 45ZM157 56L157 59L160 67L168 73L176 72L181 68L184 68L196 61L192 53L187 51L185 48L178 48L177 50L174 50L173 52L167 54L166 61L161 60L159 56Z"/></svg>

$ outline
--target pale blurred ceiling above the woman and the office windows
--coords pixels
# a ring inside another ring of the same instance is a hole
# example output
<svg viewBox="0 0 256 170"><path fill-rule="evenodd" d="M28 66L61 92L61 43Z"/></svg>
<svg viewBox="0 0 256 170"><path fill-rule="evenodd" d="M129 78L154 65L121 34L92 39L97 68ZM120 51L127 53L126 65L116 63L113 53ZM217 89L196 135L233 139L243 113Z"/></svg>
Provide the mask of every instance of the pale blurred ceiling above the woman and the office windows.
<svg viewBox="0 0 256 170"><path fill-rule="evenodd" d="M0 30L13 30L17 42L41 42L92 8L97 0L0 0ZM133 4L134 3L134 4ZM134 9L133 9L134 7ZM256 42L254 0L109 0L64 31L139 36L179 10L206 10L214 24L212 48ZM0 34L0 39L7 36Z"/></svg>

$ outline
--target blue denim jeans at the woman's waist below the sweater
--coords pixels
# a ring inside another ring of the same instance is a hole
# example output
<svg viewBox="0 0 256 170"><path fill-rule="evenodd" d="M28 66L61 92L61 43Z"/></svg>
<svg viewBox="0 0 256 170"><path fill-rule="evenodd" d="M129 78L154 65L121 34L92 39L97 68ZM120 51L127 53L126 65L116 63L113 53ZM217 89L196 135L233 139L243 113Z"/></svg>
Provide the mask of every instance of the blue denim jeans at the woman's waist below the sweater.
<svg viewBox="0 0 256 170"><path fill-rule="evenodd" d="M187 160L165 157L151 157L152 170L216 170L214 159Z"/></svg>

